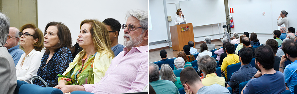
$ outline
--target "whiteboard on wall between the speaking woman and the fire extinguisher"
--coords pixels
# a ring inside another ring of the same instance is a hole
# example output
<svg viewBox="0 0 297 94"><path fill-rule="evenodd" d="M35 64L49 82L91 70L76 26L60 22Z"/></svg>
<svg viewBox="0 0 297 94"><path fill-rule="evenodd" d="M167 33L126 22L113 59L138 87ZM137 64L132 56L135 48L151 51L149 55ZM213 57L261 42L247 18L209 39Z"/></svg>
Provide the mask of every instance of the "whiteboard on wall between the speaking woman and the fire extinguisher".
<svg viewBox="0 0 297 94"><path fill-rule="evenodd" d="M226 22L224 0L179 1L179 6L193 27Z"/></svg>

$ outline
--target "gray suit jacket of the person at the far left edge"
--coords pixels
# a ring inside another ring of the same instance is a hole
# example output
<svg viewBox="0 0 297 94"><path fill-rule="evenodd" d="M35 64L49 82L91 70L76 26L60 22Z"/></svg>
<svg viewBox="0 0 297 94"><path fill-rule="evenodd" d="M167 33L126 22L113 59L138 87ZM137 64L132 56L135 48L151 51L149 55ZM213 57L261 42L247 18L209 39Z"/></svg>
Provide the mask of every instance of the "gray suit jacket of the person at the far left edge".
<svg viewBox="0 0 297 94"><path fill-rule="evenodd" d="M0 93L14 94L16 89L16 67L7 48L0 43Z"/></svg>

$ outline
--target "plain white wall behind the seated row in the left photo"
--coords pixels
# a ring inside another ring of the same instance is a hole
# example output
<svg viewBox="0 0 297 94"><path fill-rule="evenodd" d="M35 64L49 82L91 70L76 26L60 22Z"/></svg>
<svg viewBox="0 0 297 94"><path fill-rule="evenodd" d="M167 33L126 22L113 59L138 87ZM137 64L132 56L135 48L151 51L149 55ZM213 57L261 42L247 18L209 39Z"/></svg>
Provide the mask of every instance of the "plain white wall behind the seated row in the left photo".
<svg viewBox="0 0 297 94"><path fill-rule="evenodd" d="M128 10L148 11L148 0L38 0L38 27L44 32L47 23L62 22L71 32L72 44L76 43L81 21L85 19L115 18L125 24ZM119 32L119 44L123 44L124 32Z"/></svg>

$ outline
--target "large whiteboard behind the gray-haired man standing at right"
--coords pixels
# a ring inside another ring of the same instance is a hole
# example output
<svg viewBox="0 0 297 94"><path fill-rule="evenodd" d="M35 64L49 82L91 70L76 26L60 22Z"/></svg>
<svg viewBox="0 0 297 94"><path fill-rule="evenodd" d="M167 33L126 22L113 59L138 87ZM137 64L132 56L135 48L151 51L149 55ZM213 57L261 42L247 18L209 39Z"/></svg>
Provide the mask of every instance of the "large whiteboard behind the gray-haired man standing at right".
<svg viewBox="0 0 297 94"><path fill-rule="evenodd" d="M296 3L296 0L228 0L228 7L234 9L233 13L229 10L234 21L231 32L272 34L277 29L277 18L281 10L288 12L289 27L297 28Z"/></svg>

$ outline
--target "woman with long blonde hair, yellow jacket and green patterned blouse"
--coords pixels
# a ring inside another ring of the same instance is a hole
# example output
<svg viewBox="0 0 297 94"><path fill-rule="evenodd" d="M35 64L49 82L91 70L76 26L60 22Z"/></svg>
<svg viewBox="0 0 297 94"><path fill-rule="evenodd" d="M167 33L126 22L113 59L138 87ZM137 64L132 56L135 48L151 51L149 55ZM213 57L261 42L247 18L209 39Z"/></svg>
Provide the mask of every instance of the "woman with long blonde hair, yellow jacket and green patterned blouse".
<svg viewBox="0 0 297 94"><path fill-rule="evenodd" d="M72 79L60 76L59 84L54 88L60 89L69 84L94 84L104 77L110 66L114 54L105 25L97 20L84 20L80 23L79 32L78 43L83 50L62 74Z"/></svg>

